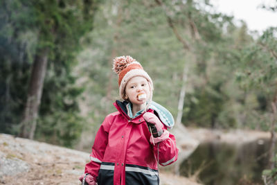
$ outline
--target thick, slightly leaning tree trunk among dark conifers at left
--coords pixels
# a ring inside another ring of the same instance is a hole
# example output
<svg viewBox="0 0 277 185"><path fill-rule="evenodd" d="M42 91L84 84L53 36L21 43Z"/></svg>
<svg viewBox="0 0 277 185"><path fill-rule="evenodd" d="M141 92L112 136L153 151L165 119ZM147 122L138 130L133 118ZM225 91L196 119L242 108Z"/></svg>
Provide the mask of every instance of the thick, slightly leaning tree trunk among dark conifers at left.
<svg viewBox="0 0 277 185"><path fill-rule="evenodd" d="M35 55L35 61L33 63L33 69L28 86L28 96L24 109L24 117L21 122L21 133L19 134L19 136L22 136L24 138L34 138L35 129L37 127L37 115L42 98L42 89L44 85L47 62L47 49Z"/></svg>

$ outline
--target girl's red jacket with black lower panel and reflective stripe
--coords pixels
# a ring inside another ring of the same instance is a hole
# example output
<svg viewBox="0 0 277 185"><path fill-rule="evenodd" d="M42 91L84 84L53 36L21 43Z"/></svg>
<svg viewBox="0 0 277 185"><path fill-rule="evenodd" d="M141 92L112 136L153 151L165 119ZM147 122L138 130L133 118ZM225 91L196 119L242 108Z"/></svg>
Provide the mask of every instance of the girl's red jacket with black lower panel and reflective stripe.
<svg viewBox="0 0 277 185"><path fill-rule="evenodd" d="M175 136L169 134L168 139L153 146L143 114L132 119L124 103L116 101L114 106L118 112L106 116L100 126L84 173L98 179L98 185L158 184L158 146L159 164L172 164L178 157ZM152 109L148 112L154 113Z"/></svg>

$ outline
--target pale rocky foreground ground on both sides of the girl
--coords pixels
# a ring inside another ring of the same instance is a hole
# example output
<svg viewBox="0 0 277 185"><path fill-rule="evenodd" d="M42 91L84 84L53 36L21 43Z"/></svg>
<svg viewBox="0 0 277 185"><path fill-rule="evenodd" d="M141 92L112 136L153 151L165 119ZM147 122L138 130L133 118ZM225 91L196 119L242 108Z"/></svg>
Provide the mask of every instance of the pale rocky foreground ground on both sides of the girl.
<svg viewBox="0 0 277 185"><path fill-rule="evenodd" d="M0 184L80 184L89 153L0 134ZM197 185L186 177L160 173L163 185Z"/></svg>

